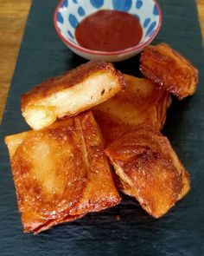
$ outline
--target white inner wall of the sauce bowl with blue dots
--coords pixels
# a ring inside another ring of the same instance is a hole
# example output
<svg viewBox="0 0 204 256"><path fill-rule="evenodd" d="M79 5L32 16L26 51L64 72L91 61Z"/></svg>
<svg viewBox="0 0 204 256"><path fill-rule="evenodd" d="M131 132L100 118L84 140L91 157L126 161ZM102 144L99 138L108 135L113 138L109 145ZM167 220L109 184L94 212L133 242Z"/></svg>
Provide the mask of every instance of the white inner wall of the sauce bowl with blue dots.
<svg viewBox="0 0 204 256"><path fill-rule="evenodd" d="M140 43L149 40L159 25L159 9L155 0L64 0L56 15L62 36L78 44L75 39L77 25L99 8L126 11L136 16L143 28Z"/></svg>

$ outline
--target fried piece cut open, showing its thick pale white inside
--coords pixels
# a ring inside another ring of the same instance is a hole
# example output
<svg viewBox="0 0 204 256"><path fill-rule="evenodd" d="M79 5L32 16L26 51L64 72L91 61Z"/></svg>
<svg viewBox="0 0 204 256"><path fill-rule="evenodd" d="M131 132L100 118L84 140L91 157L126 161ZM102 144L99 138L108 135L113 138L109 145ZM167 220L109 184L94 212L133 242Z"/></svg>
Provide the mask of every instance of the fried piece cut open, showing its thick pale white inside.
<svg viewBox="0 0 204 256"><path fill-rule="evenodd" d="M86 62L22 95L22 115L31 128L45 128L65 115L77 115L105 102L121 89L123 75L112 64Z"/></svg>

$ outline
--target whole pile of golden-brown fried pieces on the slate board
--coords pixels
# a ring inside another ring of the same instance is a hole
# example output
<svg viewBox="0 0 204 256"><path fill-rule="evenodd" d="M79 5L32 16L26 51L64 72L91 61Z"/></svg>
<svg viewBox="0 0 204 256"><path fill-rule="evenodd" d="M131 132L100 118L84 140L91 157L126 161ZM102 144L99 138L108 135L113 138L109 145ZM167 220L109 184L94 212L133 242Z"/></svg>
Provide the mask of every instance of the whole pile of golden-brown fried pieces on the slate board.
<svg viewBox="0 0 204 256"><path fill-rule="evenodd" d="M193 95L198 72L164 43L144 49L140 69L145 78L91 61L22 95L33 130L5 143L24 232L113 207L117 188L155 218L188 193L189 174L160 131L170 93Z"/></svg>

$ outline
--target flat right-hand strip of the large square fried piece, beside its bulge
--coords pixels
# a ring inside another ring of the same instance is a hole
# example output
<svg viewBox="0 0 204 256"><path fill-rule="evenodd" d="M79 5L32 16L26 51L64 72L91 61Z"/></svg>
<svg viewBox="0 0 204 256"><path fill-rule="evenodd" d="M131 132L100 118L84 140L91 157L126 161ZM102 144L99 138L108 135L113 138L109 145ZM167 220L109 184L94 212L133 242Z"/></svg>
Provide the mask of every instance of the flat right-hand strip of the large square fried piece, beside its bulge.
<svg viewBox="0 0 204 256"><path fill-rule="evenodd" d="M102 136L95 123L93 116L85 116L81 121L81 130L86 145L88 174L86 189L76 207L73 207L70 214L82 214L97 212L106 207L117 205L120 197L114 187L112 172L109 162L106 161ZM96 124L96 123L95 123Z"/></svg>

